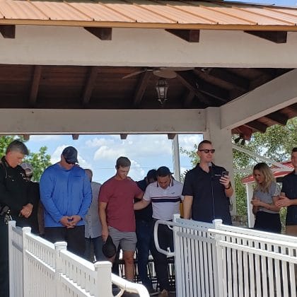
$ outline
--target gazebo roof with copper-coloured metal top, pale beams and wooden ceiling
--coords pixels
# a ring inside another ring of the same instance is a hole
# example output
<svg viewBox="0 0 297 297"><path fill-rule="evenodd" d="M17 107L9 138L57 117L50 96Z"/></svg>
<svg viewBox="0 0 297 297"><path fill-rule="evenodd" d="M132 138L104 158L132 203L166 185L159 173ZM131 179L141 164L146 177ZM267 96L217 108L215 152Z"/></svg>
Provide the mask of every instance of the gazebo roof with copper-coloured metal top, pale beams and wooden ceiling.
<svg viewBox="0 0 297 297"><path fill-rule="evenodd" d="M0 134L203 133L233 175L231 134L297 115L296 23L238 2L1 0Z"/></svg>

